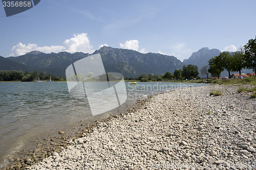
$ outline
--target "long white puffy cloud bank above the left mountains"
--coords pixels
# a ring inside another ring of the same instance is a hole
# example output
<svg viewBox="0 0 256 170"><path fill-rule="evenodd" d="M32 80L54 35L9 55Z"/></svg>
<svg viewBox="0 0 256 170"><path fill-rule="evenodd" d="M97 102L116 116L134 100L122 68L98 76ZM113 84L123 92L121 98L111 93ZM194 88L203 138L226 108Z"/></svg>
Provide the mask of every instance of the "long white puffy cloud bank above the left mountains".
<svg viewBox="0 0 256 170"><path fill-rule="evenodd" d="M66 39L63 45L37 46L36 44L23 44L19 42L12 47L12 53L9 56L20 56L31 51L40 51L43 53L59 53L59 52L83 52L93 53L93 46L90 44L87 33L74 34L74 37Z"/></svg>

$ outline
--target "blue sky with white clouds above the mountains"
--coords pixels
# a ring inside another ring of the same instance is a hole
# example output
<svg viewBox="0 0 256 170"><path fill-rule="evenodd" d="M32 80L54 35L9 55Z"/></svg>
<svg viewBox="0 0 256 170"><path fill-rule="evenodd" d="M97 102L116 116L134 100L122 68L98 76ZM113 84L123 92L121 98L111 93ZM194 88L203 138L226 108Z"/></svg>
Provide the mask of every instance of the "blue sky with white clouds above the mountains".
<svg viewBox="0 0 256 170"><path fill-rule="evenodd" d="M102 45L187 59L202 47L234 51L255 38L256 1L41 0L6 17L0 56L33 50L93 53Z"/></svg>

